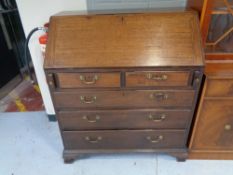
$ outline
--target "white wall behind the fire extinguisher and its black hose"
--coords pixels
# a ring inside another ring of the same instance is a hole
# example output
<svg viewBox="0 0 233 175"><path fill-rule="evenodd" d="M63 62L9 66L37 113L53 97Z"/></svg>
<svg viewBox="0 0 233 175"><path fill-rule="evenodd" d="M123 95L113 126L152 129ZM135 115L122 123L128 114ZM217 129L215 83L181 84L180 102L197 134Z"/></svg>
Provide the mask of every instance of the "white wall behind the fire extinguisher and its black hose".
<svg viewBox="0 0 233 175"><path fill-rule="evenodd" d="M70 10L86 11L86 0L16 0L16 2L26 36L33 28L43 26L48 22L49 17L53 14ZM43 57L38 43L40 34L38 32L33 35L29 48L46 112L53 115L55 112L45 79Z"/></svg>

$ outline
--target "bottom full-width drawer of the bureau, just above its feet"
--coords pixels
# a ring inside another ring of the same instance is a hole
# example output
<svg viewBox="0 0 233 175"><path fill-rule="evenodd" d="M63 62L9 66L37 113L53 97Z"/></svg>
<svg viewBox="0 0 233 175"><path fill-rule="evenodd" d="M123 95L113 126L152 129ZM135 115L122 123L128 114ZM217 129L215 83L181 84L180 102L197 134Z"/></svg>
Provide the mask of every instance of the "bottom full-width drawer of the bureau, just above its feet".
<svg viewBox="0 0 233 175"><path fill-rule="evenodd" d="M64 131L65 149L184 148L183 130Z"/></svg>

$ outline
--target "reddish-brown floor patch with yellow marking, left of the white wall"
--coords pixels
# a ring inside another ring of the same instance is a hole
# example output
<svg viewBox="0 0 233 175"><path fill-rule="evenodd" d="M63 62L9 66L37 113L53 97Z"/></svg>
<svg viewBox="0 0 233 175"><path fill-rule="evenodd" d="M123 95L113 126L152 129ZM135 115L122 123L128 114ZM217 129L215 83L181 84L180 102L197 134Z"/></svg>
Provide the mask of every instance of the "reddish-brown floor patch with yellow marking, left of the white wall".
<svg viewBox="0 0 233 175"><path fill-rule="evenodd" d="M24 79L7 96L0 99L0 112L42 111L44 105L39 86Z"/></svg>

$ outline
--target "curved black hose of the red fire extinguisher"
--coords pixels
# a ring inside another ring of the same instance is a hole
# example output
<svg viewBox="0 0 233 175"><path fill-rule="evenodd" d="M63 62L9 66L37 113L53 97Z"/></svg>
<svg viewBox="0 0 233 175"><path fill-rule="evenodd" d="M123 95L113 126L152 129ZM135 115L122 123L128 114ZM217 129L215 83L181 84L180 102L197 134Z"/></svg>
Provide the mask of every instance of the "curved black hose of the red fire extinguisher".
<svg viewBox="0 0 233 175"><path fill-rule="evenodd" d="M26 38L25 47L24 47L24 56L25 56L25 63L26 63L26 67L27 67L27 72L28 72L29 78L30 78L30 80L32 81L32 83L34 83L34 80L33 80L33 76L32 76L31 70L30 70L30 60L29 60L29 52L28 52L28 51L29 51L28 43L29 43L30 38L32 37L32 35L33 35L36 31L39 31L39 30L46 31L47 28L45 28L45 27L36 27L36 28L32 29L32 30L30 31L30 33L28 34L27 38Z"/></svg>

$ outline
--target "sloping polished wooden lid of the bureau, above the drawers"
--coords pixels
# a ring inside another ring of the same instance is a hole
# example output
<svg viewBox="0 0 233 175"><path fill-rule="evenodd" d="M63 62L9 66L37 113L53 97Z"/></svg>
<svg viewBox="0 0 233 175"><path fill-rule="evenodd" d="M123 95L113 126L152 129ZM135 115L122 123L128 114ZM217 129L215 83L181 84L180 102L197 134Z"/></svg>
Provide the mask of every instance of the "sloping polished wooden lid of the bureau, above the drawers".
<svg viewBox="0 0 233 175"><path fill-rule="evenodd" d="M45 68L202 66L194 12L50 18Z"/></svg>

